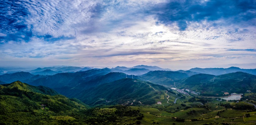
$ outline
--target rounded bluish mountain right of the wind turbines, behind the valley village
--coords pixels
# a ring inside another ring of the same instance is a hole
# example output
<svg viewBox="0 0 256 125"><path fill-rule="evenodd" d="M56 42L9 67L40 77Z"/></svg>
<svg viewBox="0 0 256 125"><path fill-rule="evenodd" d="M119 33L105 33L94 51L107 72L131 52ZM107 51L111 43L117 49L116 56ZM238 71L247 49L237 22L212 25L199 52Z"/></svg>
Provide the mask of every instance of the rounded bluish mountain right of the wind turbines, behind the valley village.
<svg viewBox="0 0 256 125"><path fill-rule="evenodd" d="M139 75L142 77L141 80L150 81L156 84L172 85L174 80L184 79L189 77L186 73L176 71L150 71L146 74ZM140 79L140 78L139 78Z"/></svg>

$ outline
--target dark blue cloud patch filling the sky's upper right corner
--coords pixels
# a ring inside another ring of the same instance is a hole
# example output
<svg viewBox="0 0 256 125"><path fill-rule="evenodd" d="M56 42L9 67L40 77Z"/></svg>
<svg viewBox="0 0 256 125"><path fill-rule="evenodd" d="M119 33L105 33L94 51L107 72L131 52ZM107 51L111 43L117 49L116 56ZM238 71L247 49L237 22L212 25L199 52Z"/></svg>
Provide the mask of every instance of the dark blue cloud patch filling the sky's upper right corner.
<svg viewBox="0 0 256 125"><path fill-rule="evenodd" d="M215 23L215 26L223 26L236 23L255 26L256 2L253 0L183 0L170 1L160 4L152 9L156 12L160 23L170 25L177 23L179 29L184 31L190 23L216 21L223 19L224 22Z"/></svg>

